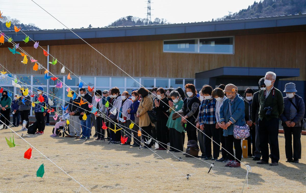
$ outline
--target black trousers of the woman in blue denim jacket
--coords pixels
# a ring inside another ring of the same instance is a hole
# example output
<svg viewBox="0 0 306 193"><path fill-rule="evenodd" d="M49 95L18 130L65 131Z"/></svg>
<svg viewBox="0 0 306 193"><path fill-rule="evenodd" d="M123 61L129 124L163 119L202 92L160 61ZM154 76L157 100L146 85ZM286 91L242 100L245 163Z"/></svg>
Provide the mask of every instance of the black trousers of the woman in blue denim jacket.
<svg viewBox="0 0 306 193"><path fill-rule="evenodd" d="M241 148L241 140L236 139L233 135L229 135L224 137L225 138L225 145L226 145L226 150L230 152L230 154L227 155L227 158L229 160L234 160L234 150L233 150L233 143L235 147L235 153L236 153L236 160L238 162L241 161L241 156L242 156L242 148Z"/></svg>

